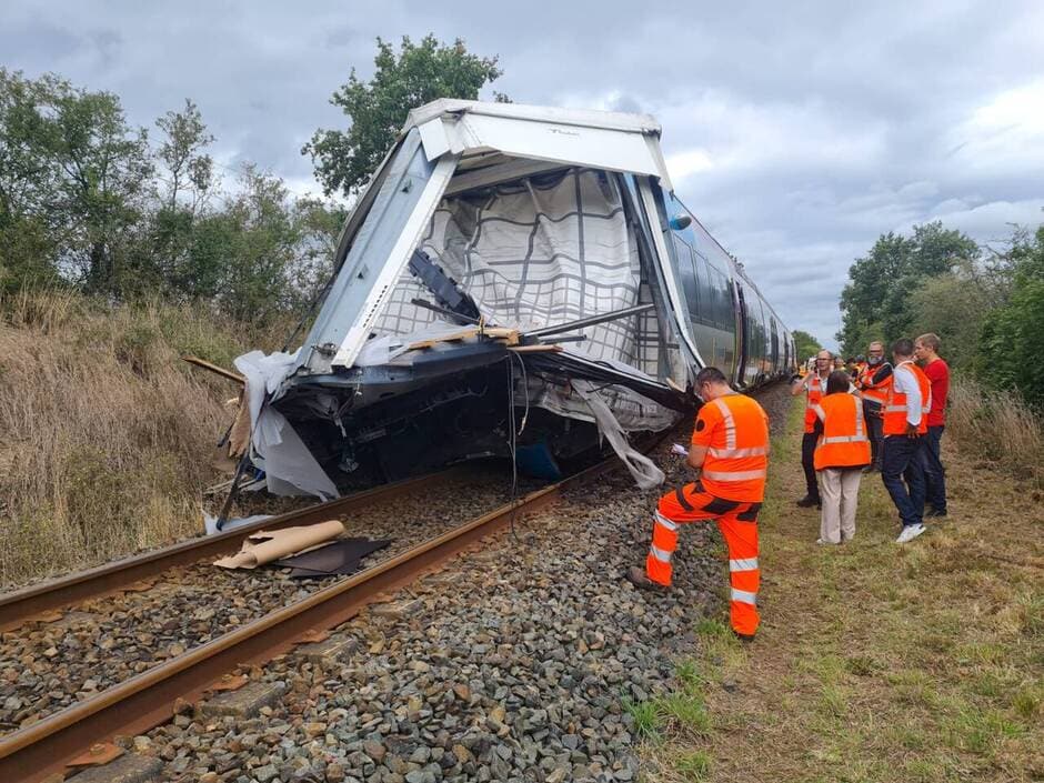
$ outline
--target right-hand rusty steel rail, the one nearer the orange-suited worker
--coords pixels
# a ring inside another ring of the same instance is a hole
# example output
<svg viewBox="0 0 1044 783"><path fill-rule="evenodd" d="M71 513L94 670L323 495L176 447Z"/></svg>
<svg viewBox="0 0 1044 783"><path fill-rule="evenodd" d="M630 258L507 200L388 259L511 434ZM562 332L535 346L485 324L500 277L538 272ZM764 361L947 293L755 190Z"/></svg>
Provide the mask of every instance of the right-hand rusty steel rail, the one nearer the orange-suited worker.
<svg viewBox="0 0 1044 783"><path fill-rule="evenodd" d="M178 700L198 699L222 674L243 664L270 660L292 646L307 631L345 622L381 593L409 584L439 563L502 530L516 514L544 508L558 500L563 490L585 483L619 464L612 456L556 484L531 492L0 739L0 781L42 781L61 772L66 762L94 743L117 734L138 734L170 720Z"/></svg>

